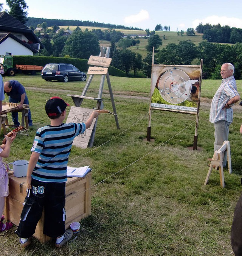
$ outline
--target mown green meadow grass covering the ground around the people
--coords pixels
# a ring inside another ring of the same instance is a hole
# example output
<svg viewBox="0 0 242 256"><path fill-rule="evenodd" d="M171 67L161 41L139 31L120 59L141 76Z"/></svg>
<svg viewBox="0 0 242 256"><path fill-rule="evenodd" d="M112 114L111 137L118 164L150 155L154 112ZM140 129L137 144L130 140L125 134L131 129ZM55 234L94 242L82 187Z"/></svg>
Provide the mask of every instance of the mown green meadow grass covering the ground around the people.
<svg viewBox="0 0 242 256"><path fill-rule="evenodd" d="M29 159L36 129L49 123L44 110L48 98L58 95L74 105L68 91L81 94L85 86L85 82L45 82L39 76L14 79L28 87L34 126L29 137L17 136L6 162ZM54 248L53 241L42 245L33 239L22 250L12 229L0 233L1 255L230 255L231 222L241 192L240 109L234 111L230 126L233 172L229 175L225 169L224 189L214 170L204 186L206 158L213 155L214 142L209 107L200 107L198 146L202 150L188 149L193 144L194 115L152 111L153 140L147 142L150 80L113 76L110 80L120 130L112 115L102 114L94 147L73 147L70 155L70 166L93 168L92 211L81 220L81 232L62 249ZM241 83L237 81L240 95ZM88 93L97 96L99 84L97 76ZM204 80L202 97L213 97L219 84L220 80ZM102 97L104 108L112 111L107 84ZM88 108L95 105L88 100L83 103Z"/></svg>

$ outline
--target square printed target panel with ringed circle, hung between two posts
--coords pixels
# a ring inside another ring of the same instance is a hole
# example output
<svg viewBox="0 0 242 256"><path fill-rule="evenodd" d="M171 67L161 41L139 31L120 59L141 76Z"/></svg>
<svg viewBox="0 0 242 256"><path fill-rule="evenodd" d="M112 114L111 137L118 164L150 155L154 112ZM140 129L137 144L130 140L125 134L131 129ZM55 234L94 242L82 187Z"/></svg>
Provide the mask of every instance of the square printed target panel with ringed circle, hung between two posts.
<svg viewBox="0 0 242 256"><path fill-rule="evenodd" d="M153 65L150 108L197 112L200 66Z"/></svg>

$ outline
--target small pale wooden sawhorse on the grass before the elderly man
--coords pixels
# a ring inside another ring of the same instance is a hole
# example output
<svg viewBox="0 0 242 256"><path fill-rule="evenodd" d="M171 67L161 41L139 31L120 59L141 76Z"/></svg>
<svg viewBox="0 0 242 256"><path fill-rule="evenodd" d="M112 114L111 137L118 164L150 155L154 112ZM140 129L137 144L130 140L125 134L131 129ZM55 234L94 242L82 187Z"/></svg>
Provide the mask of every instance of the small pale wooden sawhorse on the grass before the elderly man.
<svg viewBox="0 0 242 256"><path fill-rule="evenodd" d="M224 176L223 176L223 157L222 154L227 151L227 162L228 162L228 172L231 174L232 169L231 169L231 157L230 157L230 142L228 140L225 140L223 142L222 147L219 148L219 150L216 150L213 154L213 158L211 161L211 164L208 169L208 174L206 176L206 180L204 182L204 185L208 183L209 176L212 172L213 166L215 166L215 170L219 167L219 176L220 176L220 186L225 187L224 184Z"/></svg>

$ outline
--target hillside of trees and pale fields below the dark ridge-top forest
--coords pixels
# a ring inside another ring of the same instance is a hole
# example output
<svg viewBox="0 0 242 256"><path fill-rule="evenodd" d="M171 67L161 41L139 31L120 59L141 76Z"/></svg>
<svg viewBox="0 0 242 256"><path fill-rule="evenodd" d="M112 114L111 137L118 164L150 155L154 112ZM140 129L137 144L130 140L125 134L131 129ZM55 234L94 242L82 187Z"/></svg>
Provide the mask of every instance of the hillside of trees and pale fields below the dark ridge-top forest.
<svg viewBox="0 0 242 256"><path fill-rule="evenodd" d="M37 24L38 29L34 31L45 46L40 55L88 59L90 55L99 54L99 46L110 46L113 67L123 70L127 76L150 77L152 48L155 47L155 64L200 65L203 59L203 79L220 79L221 64L231 62L235 66L235 78L242 78L240 42L213 44L202 40L202 34L195 33L193 29L193 33L189 33L189 30L143 31L98 28L90 26L88 22L79 27L73 25L75 21L65 22L71 25Z"/></svg>

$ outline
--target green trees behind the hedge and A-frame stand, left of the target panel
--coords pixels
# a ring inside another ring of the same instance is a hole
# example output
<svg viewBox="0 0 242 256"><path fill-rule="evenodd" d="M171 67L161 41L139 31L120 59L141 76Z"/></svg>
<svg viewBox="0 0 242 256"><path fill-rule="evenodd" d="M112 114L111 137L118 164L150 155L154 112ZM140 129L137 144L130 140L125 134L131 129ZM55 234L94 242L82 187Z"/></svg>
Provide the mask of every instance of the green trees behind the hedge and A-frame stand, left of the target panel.
<svg viewBox="0 0 242 256"><path fill-rule="evenodd" d="M133 70L134 76L137 75L138 70L146 76L150 76L151 67L149 67L149 61L146 58L142 59L139 53L127 49L132 45L137 45L138 47L139 39L133 39L130 36L123 38L124 34L114 29L104 31L100 29L93 29L92 31L85 29L82 31L79 27L67 37L64 35L64 29L60 29L58 33L54 32L59 28L56 25L53 26L52 31L49 31L50 29L47 28L45 22L40 26L48 31L41 39L45 48L40 51L40 55L88 59L90 55L99 54L99 40L105 39L110 41L112 66L123 70L127 76L130 70ZM36 34L40 35L39 32L36 32ZM157 49L160 45L162 45L160 36L153 35L148 39L146 50L151 52L153 46Z"/></svg>

